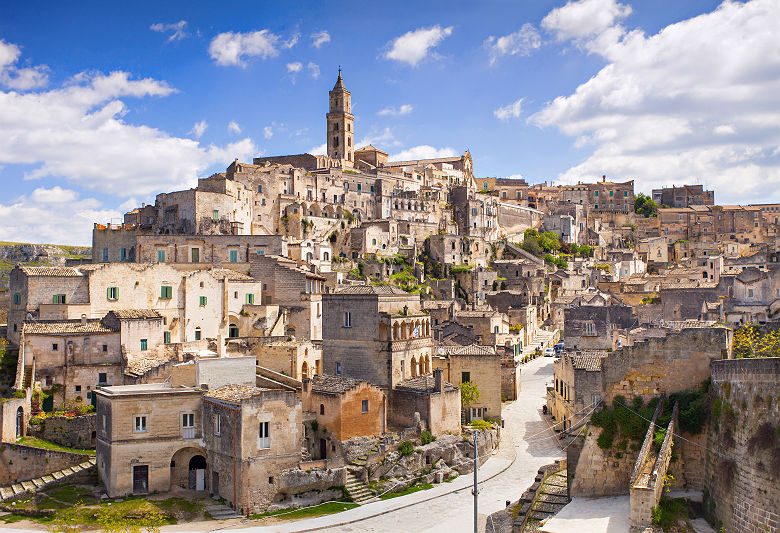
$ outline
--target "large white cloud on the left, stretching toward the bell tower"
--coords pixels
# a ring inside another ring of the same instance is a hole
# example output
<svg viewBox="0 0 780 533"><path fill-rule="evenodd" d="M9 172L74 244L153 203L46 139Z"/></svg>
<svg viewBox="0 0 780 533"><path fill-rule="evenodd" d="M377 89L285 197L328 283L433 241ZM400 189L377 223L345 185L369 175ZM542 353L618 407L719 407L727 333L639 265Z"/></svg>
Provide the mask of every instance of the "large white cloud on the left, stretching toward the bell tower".
<svg viewBox="0 0 780 533"><path fill-rule="evenodd" d="M35 93L0 91L0 165L31 166L25 179L64 179L126 198L192 187L210 167L258 152L248 138L203 146L122 119L123 98L174 92L163 81L126 72L81 73Z"/></svg>

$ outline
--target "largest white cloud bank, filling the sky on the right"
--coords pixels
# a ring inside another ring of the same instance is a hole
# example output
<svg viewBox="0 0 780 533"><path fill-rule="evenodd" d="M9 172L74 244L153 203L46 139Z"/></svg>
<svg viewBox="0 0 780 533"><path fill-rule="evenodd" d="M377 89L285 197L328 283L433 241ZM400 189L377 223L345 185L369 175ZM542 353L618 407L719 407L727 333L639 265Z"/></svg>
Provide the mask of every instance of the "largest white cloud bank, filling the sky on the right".
<svg viewBox="0 0 780 533"><path fill-rule="evenodd" d="M530 118L539 126L557 127L580 147L593 147L589 157L560 175L561 181L608 174L636 178L638 187L647 190L704 179L728 202L776 195L776 0L726 1L650 36L624 30L617 21L628 8L619 5L611 17L577 29L571 13L597 17L580 4L592 7L587 0L567 4L560 9L572 11L546 18L553 21L546 27L579 41L607 65Z"/></svg>

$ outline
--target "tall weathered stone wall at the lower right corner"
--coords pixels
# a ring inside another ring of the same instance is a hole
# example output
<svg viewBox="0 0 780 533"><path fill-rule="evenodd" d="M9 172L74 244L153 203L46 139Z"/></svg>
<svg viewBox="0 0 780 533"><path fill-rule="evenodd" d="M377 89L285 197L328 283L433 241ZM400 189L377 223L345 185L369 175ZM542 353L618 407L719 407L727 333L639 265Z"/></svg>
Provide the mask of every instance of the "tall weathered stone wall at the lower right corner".
<svg viewBox="0 0 780 533"><path fill-rule="evenodd" d="M729 533L780 524L780 358L712 363L715 394L704 469L706 511Z"/></svg>

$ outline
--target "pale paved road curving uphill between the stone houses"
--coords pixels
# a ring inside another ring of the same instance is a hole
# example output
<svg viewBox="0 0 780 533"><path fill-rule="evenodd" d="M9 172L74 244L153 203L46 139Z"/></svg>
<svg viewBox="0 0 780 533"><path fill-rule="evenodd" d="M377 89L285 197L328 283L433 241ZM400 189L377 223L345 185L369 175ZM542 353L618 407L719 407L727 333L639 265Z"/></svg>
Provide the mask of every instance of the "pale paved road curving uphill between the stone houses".
<svg viewBox="0 0 780 533"><path fill-rule="evenodd" d="M540 466L563 457L563 452L542 419L545 385L552 380L553 359L539 357L524 365L519 399L505 404L501 445L480 469L479 513L485 516L505 508L506 500L515 501L531 485ZM492 476L492 477L491 477ZM247 532L446 532L471 531L473 524L472 476L461 476L452 483L379 501L338 513L266 527L238 526L232 530ZM458 489L456 492L451 492ZM448 494L448 492L450 492ZM381 514L379 514L381 513ZM351 522L351 523L345 523ZM491 531L490 524L486 530Z"/></svg>

